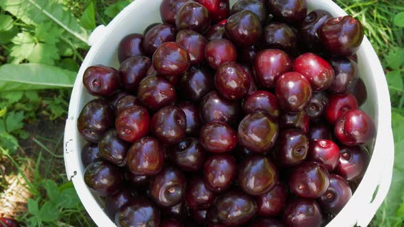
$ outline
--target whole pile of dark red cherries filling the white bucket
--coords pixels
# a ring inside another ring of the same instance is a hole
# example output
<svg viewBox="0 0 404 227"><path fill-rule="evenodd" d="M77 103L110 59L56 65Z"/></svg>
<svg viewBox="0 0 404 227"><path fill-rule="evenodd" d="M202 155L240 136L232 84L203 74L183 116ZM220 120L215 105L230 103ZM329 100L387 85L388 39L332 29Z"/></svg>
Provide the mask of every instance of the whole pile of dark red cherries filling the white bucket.
<svg viewBox="0 0 404 227"><path fill-rule="evenodd" d="M375 124L351 16L305 0L163 0L77 127L88 187L118 226L324 226L366 171Z"/></svg>

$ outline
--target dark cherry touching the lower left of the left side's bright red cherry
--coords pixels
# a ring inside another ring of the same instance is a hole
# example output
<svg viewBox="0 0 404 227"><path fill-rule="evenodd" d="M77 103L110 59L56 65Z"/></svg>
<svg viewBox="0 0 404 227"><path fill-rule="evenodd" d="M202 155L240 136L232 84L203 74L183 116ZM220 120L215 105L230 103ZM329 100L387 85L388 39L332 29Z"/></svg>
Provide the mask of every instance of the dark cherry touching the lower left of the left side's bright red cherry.
<svg viewBox="0 0 404 227"><path fill-rule="evenodd" d="M115 165L125 165L129 144L118 137L116 130L105 133L99 141L99 155Z"/></svg>

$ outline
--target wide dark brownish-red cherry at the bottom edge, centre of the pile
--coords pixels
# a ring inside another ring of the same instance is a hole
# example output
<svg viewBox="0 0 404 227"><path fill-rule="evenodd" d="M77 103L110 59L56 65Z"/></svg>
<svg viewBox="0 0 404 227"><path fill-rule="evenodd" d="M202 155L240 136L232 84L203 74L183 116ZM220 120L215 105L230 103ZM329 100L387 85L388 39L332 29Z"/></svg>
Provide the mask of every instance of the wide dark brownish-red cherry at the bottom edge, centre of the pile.
<svg viewBox="0 0 404 227"><path fill-rule="evenodd" d="M257 204L244 193L229 191L220 195L214 202L218 221L227 226L246 224L257 213Z"/></svg>

